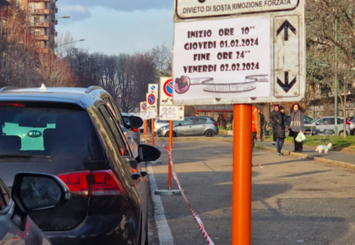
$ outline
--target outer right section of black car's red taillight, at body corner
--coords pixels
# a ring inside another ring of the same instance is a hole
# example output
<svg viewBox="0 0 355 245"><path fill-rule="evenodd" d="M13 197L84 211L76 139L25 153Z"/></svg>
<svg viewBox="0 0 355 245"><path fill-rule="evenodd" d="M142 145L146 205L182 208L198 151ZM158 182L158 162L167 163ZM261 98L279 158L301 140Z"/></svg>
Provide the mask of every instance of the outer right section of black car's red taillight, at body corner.
<svg viewBox="0 0 355 245"><path fill-rule="evenodd" d="M126 191L111 171L93 171L91 196L125 196Z"/></svg>

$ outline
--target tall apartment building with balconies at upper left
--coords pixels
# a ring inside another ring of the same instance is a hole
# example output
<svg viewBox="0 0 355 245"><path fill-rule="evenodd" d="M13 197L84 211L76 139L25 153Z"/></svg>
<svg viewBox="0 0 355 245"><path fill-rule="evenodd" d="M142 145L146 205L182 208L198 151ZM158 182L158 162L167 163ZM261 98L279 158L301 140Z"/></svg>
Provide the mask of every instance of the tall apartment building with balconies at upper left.
<svg viewBox="0 0 355 245"><path fill-rule="evenodd" d="M56 0L20 0L22 9L29 17L31 29L38 40L40 53L49 54L49 49L55 47L56 32ZM48 47L49 49L45 48Z"/></svg>

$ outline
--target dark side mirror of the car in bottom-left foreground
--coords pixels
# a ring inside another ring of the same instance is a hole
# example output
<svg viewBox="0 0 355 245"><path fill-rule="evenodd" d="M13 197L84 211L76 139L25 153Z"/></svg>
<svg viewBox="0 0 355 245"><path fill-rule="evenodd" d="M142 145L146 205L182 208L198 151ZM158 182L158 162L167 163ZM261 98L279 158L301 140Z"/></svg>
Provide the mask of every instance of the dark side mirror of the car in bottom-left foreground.
<svg viewBox="0 0 355 245"><path fill-rule="evenodd" d="M70 199L69 188L55 175L17 173L13 182L13 221L24 230L27 214L49 210Z"/></svg>

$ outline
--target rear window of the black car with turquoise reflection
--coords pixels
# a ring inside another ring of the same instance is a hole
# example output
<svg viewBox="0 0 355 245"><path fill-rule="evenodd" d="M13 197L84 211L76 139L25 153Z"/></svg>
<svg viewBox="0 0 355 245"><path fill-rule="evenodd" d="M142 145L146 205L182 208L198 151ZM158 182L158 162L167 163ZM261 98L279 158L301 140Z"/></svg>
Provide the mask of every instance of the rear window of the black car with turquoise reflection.
<svg viewBox="0 0 355 245"><path fill-rule="evenodd" d="M86 111L0 107L0 125L1 161L16 156L54 161L103 159Z"/></svg>

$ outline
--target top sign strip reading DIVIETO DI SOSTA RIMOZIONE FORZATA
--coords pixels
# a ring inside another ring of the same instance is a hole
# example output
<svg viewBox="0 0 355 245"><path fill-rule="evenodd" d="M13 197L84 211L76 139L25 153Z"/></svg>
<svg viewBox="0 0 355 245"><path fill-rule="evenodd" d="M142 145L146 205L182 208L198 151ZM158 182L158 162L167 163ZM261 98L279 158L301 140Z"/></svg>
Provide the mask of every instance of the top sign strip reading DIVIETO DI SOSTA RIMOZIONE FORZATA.
<svg viewBox="0 0 355 245"><path fill-rule="evenodd" d="M292 10L299 0L175 0L180 19Z"/></svg>

